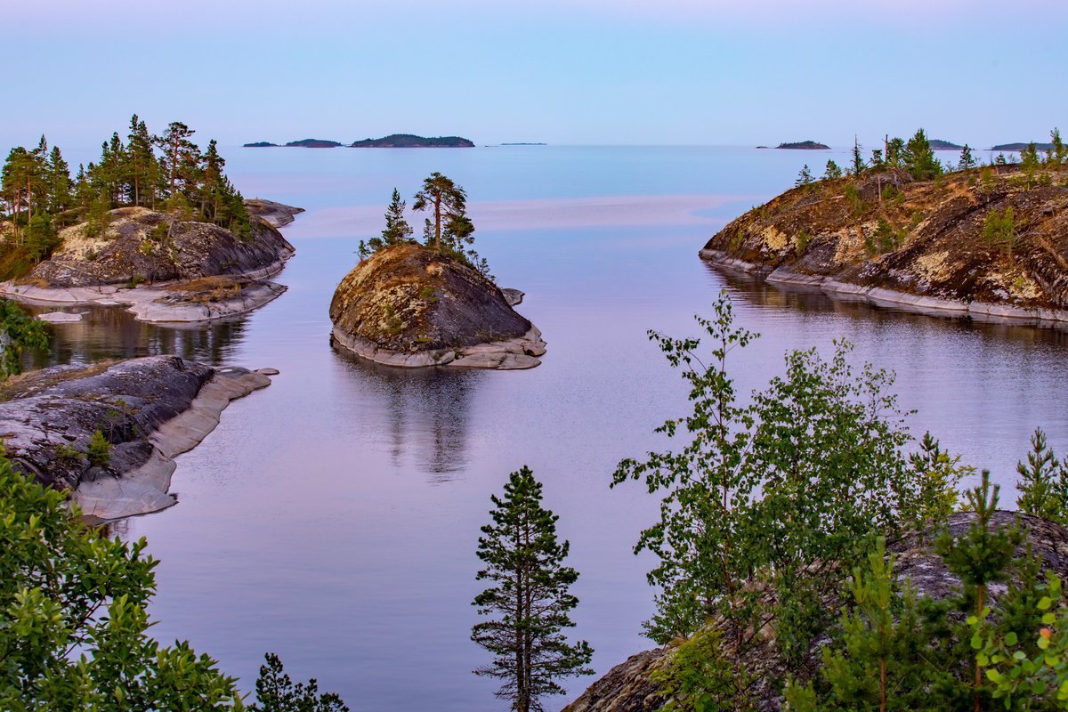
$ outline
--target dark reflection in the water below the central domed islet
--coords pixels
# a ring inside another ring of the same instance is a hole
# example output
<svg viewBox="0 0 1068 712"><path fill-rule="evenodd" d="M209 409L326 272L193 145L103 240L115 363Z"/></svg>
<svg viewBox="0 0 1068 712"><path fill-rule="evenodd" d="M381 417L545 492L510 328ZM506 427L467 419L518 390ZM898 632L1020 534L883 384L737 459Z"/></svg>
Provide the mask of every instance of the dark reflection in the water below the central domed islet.
<svg viewBox="0 0 1068 712"><path fill-rule="evenodd" d="M382 401L388 423L378 427L389 433L394 465L414 456L431 482L454 479L467 468L471 397L483 373L383 366L336 344L333 351L351 376L345 385Z"/></svg>

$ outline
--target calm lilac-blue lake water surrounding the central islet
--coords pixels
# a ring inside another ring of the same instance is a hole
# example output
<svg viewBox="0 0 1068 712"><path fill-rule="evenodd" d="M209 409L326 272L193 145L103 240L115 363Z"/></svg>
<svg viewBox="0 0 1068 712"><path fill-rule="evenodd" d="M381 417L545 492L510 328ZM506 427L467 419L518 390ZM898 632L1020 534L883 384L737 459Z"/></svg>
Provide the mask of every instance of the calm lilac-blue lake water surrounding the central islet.
<svg viewBox="0 0 1068 712"><path fill-rule="evenodd" d="M763 334L733 361L740 392L782 370L787 349L855 344L897 373L901 406L1015 501L1014 466L1041 425L1068 446L1068 334L835 302L723 275L696 256L751 205L821 173L845 152L731 147L242 149L225 152L247 196L299 205L288 291L234 321L172 329L98 310L52 328L43 361L178 353L281 375L236 401L178 459L178 505L117 525L145 536L163 639L188 638L251 689L264 651L318 678L354 710L500 709L471 670L478 527L523 464L545 484L581 577L575 635L598 673L650 647L651 567L631 547L654 521L639 485L610 491L616 463L664 445L656 425L687 411L682 382L647 329L694 333L726 288ZM393 187L440 171L468 190L477 248L549 352L529 371L407 371L331 349L327 308L375 234ZM567 683L575 694L590 679ZM567 700L550 700L559 709Z"/></svg>

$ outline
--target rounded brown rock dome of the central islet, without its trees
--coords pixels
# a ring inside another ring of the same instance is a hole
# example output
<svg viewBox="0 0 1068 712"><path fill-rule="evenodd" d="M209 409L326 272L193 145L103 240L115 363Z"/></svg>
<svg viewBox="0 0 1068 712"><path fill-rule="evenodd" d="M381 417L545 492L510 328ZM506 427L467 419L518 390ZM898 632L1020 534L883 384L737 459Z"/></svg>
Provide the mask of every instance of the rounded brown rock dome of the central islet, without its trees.
<svg viewBox="0 0 1068 712"><path fill-rule="evenodd" d="M330 303L333 341L404 367L533 368L546 352L500 289L456 257L410 242L379 250L342 280Z"/></svg>

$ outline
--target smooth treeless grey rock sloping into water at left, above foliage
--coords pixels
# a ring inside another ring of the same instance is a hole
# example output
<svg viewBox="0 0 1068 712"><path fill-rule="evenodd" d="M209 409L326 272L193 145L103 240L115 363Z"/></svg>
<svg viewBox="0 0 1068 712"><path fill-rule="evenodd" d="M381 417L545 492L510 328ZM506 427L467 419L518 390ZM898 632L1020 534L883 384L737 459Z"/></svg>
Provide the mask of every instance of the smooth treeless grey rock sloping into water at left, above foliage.
<svg viewBox="0 0 1068 712"><path fill-rule="evenodd" d="M157 511L175 503L173 458L274 373L161 355L17 376L0 392L5 455L38 482L69 491L91 520Z"/></svg>

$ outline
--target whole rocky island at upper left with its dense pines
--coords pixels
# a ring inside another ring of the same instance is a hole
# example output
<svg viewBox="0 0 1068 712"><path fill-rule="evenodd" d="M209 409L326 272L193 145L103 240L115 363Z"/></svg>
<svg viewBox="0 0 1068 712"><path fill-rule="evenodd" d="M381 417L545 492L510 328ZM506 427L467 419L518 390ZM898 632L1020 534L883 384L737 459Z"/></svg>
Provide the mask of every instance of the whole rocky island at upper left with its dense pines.
<svg viewBox="0 0 1068 712"><path fill-rule="evenodd" d="M267 278L294 249L278 227L301 209L246 201L216 142L202 151L193 133L173 122L153 136L135 115L127 141L113 133L75 178L44 137L13 148L0 186L0 290L33 303L123 304L146 321L216 319L282 294Z"/></svg>

